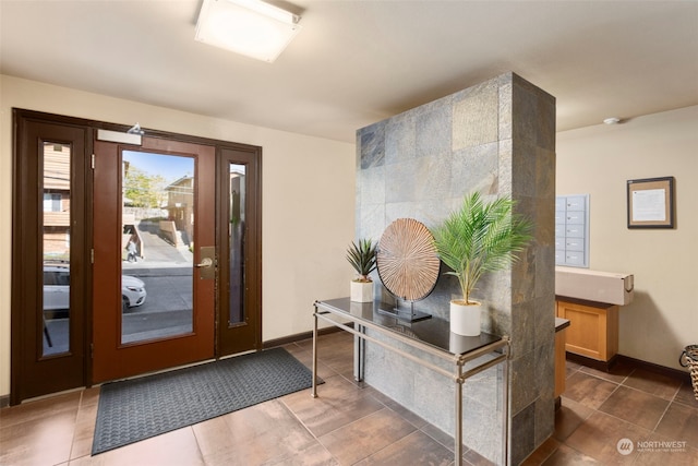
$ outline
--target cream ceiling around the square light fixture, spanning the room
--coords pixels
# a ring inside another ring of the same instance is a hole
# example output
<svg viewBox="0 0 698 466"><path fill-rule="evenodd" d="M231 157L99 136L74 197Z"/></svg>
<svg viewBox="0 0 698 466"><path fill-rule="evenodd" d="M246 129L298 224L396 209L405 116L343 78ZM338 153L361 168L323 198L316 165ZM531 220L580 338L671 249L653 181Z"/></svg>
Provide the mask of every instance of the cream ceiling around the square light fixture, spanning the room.
<svg viewBox="0 0 698 466"><path fill-rule="evenodd" d="M0 0L0 72L347 142L507 71L559 131L698 105L693 0L286 4L303 29L269 64L194 41L200 0Z"/></svg>

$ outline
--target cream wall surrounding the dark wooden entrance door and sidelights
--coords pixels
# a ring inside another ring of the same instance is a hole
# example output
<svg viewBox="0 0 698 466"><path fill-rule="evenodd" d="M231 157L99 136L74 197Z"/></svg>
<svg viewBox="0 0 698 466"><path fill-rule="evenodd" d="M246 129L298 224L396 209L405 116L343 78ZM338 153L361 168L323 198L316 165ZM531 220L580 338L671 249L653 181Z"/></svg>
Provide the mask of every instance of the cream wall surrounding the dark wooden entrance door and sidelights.
<svg viewBox="0 0 698 466"><path fill-rule="evenodd" d="M311 330L315 299L348 294L353 144L0 75L0 396L10 393L13 107L262 146L263 339Z"/></svg>

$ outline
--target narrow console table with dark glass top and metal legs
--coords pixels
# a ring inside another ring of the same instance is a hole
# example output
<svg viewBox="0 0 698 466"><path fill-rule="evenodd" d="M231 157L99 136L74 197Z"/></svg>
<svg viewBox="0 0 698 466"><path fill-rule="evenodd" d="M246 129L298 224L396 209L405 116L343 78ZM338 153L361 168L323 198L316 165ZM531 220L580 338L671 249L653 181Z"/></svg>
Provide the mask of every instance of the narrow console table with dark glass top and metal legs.
<svg viewBox="0 0 698 466"><path fill-rule="evenodd" d="M468 378L502 363L504 384L502 387L502 458L504 458L503 464L508 464L508 336L495 336L486 333L481 333L480 336L456 335L450 333L447 321L437 318L411 323L405 322L389 312L394 304L384 304L378 301L362 303L352 302L349 298L340 298L315 301L314 308L312 396L317 397L317 322L318 319L322 319L359 337L358 344L354 345L354 377L358 381L363 379L364 342L371 342L397 353L454 381L456 384L454 456L457 466L462 464L462 384ZM353 327L348 323L352 323ZM388 342L366 335L366 328L388 336L388 340L400 342L425 354L436 356L452 363L453 370L446 370L426 358L420 358L419 355L406 353ZM491 355L491 358L483 358L484 361L476 361L477 363L473 362L472 367L469 365L468 369L465 368L466 363L486 355Z"/></svg>

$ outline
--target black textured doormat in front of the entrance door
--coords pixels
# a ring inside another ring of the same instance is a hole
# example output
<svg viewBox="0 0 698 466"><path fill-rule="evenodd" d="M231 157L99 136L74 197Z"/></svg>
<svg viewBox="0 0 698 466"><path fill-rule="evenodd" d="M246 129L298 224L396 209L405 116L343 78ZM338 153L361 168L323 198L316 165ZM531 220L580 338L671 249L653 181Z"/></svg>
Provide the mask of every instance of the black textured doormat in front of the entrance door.
<svg viewBox="0 0 698 466"><path fill-rule="evenodd" d="M272 348L107 383L99 391L92 454L309 389L312 379L286 349Z"/></svg>

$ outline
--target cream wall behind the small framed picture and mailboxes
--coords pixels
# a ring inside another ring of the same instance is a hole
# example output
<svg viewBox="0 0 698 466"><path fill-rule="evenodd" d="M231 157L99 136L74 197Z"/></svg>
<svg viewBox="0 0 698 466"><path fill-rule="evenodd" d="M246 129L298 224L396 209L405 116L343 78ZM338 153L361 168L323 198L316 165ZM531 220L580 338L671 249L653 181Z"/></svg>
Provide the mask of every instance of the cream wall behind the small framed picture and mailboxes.
<svg viewBox="0 0 698 466"><path fill-rule="evenodd" d="M590 194L590 268L635 274L619 354L679 369L698 344L698 106L557 133L557 194ZM628 229L626 181L673 176L675 229Z"/></svg>

